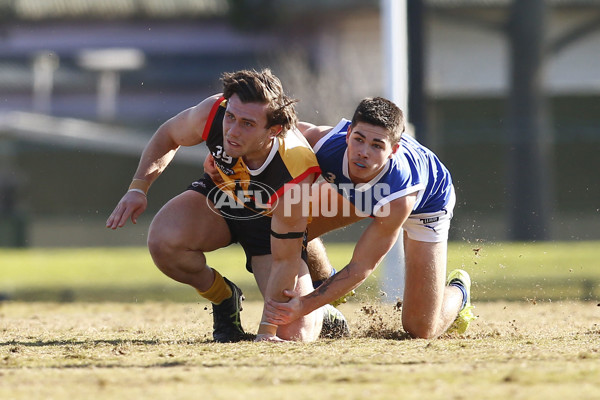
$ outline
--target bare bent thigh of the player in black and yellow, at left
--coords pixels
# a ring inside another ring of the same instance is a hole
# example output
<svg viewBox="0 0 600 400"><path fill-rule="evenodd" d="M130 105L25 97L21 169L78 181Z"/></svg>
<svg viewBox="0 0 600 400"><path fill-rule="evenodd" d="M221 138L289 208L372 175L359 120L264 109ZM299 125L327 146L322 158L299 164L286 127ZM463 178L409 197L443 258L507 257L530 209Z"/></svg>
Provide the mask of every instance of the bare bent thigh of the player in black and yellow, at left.
<svg viewBox="0 0 600 400"><path fill-rule="evenodd" d="M231 242L225 219L209 207L206 196L186 190L167 202L150 225L148 242L212 251Z"/></svg>

